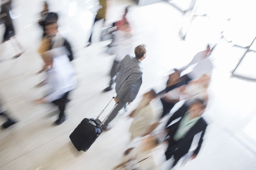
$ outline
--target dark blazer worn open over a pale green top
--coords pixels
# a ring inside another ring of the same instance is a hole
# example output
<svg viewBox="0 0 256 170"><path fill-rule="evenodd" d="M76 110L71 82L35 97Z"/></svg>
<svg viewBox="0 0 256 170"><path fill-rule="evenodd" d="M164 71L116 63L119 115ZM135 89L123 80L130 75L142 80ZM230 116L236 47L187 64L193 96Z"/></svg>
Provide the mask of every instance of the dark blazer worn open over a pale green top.
<svg viewBox="0 0 256 170"><path fill-rule="evenodd" d="M166 127L172 121L176 120L177 118L181 117L181 119L182 119L183 116L185 115L185 113L187 112L187 110L188 110L188 107L186 105L183 105L177 112L175 112L172 115L172 117L170 118L170 120L166 124ZM167 151L165 152L165 155L166 155L167 159L171 158L172 155L174 155L174 157L179 157L179 158L186 155L187 152L189 151L191 143L193 142L194 136L199 132L202 132L202 133L201 133L201 137L200 137L199 142L198 142L198 146L197 146L196 150L194 151L194 154L197 155L200 148L201 148L204 133L205 133L206 127L208 125L205 122L204 118L201 117L198 120L198 122L188 131L188 133L185 135L184 138L182 138L178 141L174 141L173 137L174 137L175 133L178 130L181 119L178 122L176 122L176 123L170 125L169 127L167 127L167 129L169 129L169 135L170 135L169 146L167 148Z"/></svg>

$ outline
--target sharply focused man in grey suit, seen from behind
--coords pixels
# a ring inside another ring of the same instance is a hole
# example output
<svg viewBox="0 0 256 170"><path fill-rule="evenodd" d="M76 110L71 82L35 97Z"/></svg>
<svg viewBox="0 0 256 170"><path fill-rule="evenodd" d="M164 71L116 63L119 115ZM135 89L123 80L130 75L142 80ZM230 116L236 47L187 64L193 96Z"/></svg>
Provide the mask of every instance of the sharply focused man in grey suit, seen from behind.
<svg viewBox="0 0 256 170"><path fill-rule="evenodd" d="M127 104L131 103L140 90L142 84L143 68L141 62L146 58L146 46L139 45L134 50L135 57L128 54L116 66L116 97L118 103L114 111L109 115L102 129L110 130L108 125L117 115L117 113Z"/></svg>

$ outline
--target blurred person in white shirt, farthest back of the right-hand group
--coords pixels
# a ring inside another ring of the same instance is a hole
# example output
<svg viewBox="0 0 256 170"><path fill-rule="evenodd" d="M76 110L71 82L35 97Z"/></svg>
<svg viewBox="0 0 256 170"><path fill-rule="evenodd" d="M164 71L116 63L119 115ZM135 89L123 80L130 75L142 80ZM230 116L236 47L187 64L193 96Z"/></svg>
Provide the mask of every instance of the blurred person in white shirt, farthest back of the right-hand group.
<svg viewBox="0 0 256 170"><path fill-rule="evenodd" d="M212 72L213 64L209 58L209 55L212 53L213 49L214 47L210 49L210 46L207 45L206 50L197 53L188 65L179 70L181 73L187 70L189 66L196 64L191 72L182 76L182 78L186 79L187 83L191 80L200 78L204 73Z"/></svg>

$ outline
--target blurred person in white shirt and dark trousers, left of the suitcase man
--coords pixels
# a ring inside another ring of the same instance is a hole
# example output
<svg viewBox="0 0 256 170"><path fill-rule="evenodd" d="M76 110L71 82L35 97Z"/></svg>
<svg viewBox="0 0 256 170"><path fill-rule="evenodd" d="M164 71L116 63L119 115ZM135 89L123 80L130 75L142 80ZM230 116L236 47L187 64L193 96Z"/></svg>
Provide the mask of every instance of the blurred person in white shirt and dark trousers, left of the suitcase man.
<svg viewBox="0 0 256 170"><path fill-rule="evenodd" d="M66 120L65 106L69 102L69 91L76 87L75 70L66 55L49 57L43 55L44 62L50 69L46 71L47 78L40 85L47 83L50 85L49 95L37 99L36 103L50 103L57 105L60 110L56 124L61 124Z"/></svg>

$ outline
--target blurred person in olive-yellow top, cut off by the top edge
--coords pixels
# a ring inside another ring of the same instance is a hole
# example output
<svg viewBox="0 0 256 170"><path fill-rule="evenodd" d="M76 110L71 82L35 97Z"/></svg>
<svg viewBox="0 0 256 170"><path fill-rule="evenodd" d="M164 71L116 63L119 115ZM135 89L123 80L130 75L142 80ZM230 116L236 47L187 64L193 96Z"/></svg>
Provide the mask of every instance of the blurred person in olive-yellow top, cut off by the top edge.
<svg viewBox="0 0 256 170"><path fill-rule="evenodd" d="M88 41L86 47L89 47L92 44L92 33L93 33L93 28L94 28L95 22L103 19L103 26L105 25L106 12L107 12L107 0L99 0L99 3L100 3L102 8L100 8L98 10L98 12L97 12L97 14L95 16L94 22L92 24L91 36L89 38L89 41Z"/></svg>

